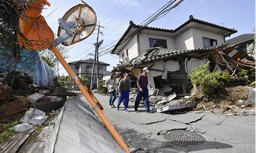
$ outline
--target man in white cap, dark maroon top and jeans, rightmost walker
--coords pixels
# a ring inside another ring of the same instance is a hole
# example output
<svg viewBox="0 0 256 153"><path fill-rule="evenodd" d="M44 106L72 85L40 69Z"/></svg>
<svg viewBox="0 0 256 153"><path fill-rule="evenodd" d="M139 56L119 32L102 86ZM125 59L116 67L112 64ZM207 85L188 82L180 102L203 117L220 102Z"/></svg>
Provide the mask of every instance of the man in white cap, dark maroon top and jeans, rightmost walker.
<svg viewBox="0 0 256 153"><path fill-rule="evenodd" d="M147 73L150 72L147 67L142 69L142 73L137 78L137 96L135 100L134 110L138 111L139 103L141 98L143 97L144 106L147 113L150 113L150 101L148 100L148 78Z"/></svg>

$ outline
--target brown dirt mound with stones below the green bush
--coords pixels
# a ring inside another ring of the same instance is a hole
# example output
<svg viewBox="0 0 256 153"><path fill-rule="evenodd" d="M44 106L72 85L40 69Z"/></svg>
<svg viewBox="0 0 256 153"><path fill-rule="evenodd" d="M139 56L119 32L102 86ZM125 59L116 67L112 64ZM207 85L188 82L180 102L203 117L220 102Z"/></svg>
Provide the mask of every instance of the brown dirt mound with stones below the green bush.
<svg viewBox="0 0 256 153"><path fill-rule="evenodd" d="M219 91L218 94L212 95L211 99L208 98L196 98L199 102L195 110L197 111L217 111L217 112L234 112L236 109L251 110L255 106L248 103L249 87L236 86L229 87L223 91Z"/></svg>

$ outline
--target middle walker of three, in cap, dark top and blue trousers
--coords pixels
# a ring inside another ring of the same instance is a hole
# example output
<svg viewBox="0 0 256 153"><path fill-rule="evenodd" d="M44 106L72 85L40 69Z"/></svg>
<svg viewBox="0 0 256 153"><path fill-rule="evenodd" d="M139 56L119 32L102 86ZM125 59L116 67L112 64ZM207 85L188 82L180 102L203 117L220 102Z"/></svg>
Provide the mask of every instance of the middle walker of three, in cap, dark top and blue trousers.
<svg viewBox="0 0 256 153"><path fill-rule="evenodd" d="M124 78L119 82L118 89L119 89L119 93L121 94L121 96L119 97L118 102L117 102L117 110L119 110L119 106L124 99L123 111L128 112L127 108L128 108L128 103L129 103L129 92L130 92L129 74L124 73L123 77Z"/></svg>

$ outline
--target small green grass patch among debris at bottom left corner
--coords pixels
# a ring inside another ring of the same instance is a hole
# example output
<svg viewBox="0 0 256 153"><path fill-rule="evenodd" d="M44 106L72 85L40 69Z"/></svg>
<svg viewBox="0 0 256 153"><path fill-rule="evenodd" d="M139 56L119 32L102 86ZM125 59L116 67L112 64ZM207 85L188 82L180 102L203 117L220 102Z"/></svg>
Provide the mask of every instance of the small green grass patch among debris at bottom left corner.
<svg viewBox="0 0 256 153"><path fill-rule="evenodd" d="M2 133L0 133L0 145L8 141L12 136L17 134L16 131L9 129L9 127L15 126L17 124L18 124L18 121L9 122L6 124L0 123L0 129L2 129Z"/></svg>

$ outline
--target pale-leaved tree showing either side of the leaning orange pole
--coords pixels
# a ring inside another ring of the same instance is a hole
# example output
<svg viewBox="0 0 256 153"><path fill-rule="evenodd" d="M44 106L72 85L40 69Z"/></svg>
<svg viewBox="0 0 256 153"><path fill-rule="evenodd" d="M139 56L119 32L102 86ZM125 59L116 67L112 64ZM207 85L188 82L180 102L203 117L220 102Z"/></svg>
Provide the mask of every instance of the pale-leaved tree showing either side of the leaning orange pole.
<svg viewBox="0 0 256 153"><path fill-rule="evenodd" d="M63 46L62 44L57 46L57 49L59 50L60 54L63 56L63 58L69 58L69 49L68 47ZM52 52L52 50L45 49L41 50L39 52L39 55L42 57L42 59L52 68L54 68L57 64L57 57Z"/></svg>

